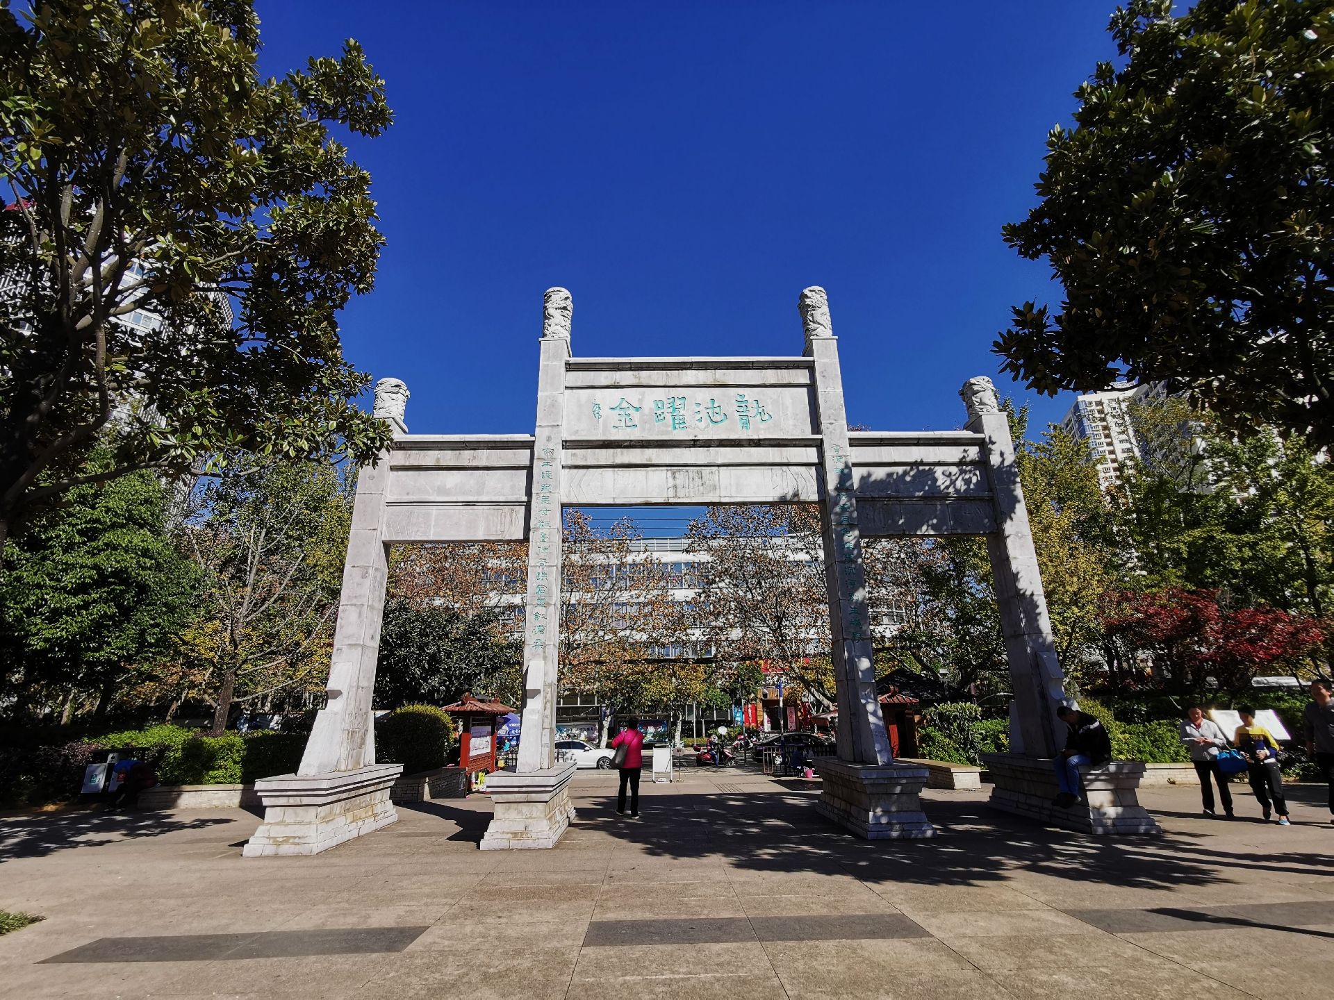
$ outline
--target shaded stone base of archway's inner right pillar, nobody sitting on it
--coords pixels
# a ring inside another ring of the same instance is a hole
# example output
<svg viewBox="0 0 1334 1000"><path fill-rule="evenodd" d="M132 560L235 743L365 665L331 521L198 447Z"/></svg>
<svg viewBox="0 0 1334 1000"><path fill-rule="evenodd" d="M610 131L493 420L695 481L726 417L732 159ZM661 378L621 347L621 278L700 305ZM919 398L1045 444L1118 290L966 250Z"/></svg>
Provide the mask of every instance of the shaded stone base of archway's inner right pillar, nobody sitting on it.
<svg viewBox="0 0 1334 1000"><path fill-rule="evenodd" d="M815 761L823 789L816 805L822 816L866 840L934 837L935 827L922 812L927 769L915 764L854 764Z"/></svg>

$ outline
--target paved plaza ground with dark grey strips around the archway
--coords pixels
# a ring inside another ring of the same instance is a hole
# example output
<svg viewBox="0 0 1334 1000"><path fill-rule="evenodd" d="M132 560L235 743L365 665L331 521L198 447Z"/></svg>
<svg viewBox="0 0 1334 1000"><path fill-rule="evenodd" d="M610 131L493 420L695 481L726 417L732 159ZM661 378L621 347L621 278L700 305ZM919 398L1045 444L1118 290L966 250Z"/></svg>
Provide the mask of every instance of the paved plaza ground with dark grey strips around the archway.
<svg viewBox="0 0 1334 1000"><path fill-rule="evenodd" d="M808 783L687 771L614 812L582 773L552 851L482 852L482 796L315 857L247 859L235 809L0 820L13 997L1334 996L1334 827L1198 817L1145 789L1162 837L1067 835L924 795L940 836L867 843ZM1241 792L1242 789L1238 788Z"/></svg>

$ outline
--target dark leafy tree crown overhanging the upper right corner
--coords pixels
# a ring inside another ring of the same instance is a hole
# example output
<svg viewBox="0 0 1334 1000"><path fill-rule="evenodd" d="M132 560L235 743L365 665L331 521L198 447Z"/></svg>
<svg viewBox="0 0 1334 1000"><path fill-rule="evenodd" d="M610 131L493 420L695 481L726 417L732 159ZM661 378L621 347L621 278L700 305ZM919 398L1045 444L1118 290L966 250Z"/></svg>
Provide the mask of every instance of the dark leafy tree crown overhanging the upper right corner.
<svg viewBox="0 0 1334 1000"><path fill-rule="evenodd" d="M1171 379L1242 432L1334 444L1330 4L1127 0L1110 28L1118 64L1005 227L1065 300L1013 311L1003 368L1049 395Z"/></svg>

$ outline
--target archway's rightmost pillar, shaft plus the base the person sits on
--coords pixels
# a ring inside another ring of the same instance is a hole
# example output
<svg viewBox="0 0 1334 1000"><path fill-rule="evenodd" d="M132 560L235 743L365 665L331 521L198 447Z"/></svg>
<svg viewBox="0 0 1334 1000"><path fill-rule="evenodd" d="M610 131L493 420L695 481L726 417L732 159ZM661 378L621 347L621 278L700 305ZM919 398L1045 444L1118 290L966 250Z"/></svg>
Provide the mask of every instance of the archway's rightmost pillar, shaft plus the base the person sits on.
<svg viewBox="0 0 1334 1000"><path fill-rule="evenodd" d="M987 553L1014 692L1011 752L983 757L994 783L990 804L1086 833L1161 833L1158 823L1139 805L1143 764L1110 761L1081 768L1083 800L1070 808L1054 803L1058 785L1053 757L1065 748L1066 733L1055 709L1065 699L1065 675L1051 635L1010 419L990 379L970 379L959 395L968 411L967 429L984 439L996 521L995 533L987 536Z"/></svg>

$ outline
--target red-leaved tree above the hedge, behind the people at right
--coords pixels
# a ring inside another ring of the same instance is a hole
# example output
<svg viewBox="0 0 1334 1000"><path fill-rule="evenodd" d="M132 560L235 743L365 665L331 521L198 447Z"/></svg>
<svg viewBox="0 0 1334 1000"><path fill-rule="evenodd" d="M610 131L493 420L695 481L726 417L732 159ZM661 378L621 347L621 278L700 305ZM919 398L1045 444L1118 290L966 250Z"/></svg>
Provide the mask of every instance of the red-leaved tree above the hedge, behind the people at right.
<svg viewBox="0 0 1334 1000"><path fill-rule="evenodd" d="M1217 591L1121 592L1107 607L1107 632L1153 657L1166 691L1201 696L1239 692L1261 671L1301 669L1323 640L1319 623L1277 608L1227 608Z"/></svg>

